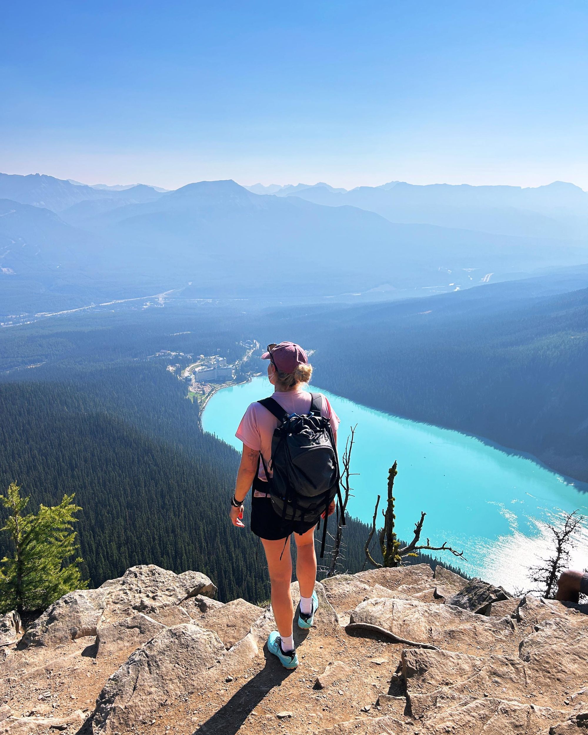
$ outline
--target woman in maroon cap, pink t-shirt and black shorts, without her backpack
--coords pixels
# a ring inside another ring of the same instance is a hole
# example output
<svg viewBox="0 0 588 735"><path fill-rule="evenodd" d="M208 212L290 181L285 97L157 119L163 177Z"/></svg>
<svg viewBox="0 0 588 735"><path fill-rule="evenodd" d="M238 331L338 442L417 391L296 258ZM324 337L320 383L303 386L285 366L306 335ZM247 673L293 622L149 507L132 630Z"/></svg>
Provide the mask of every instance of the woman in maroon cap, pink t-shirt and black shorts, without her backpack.
<svg viewBox="0 0 588 735"><path fill-rule="evenodd" d="M268 345L268 351L262 359L269 360L268 379L274 387L272 398L288 414L306 414L309 412L312 398L304 387L312 376L312 365L309 365L306 352L300 345L292 342L281 342L279 345ZM331 405L323 396L321 414L329 419L335 442L339 418L331 409ZM278 630L270 633L268 650L282 662L287 669L298 666L298 656L293 639L294 609L290 583L292 581L292 557L290 534L294 533L296 542L296 577L300 584L299 628L311 628L315 612L318 609L318 598L315 593L317 576L317 557L315 554L316 523L302 521L286 521L273 509L268 492L268 480L265 477L264 462L260 462L259 453L265 460L271 475L271 440L278 420L259 403L251 404L241 419L236 437L243 442L243 455L234 495L231 501L231 520L237 528L244 528L243 501L251 485L254 495L251 499L251 531L263 544L265 557L268 560L268 571L271 582L271 606ZM329 506L328 514L334 511L334 501ZM324 516L324 514L323 514Z"/></svg>

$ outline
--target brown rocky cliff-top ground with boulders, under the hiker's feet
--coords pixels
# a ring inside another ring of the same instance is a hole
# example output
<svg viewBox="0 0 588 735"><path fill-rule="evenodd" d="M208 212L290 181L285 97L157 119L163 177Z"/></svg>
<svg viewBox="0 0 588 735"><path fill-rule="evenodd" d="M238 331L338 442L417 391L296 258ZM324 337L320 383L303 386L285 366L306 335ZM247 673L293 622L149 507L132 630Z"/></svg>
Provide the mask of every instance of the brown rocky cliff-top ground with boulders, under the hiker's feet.
<svg viewBox="0 0 588 735"><path fill-rule="evenodd" d="M140 566L26 631L4 616L0 735L588 735L588 606L425 564L341 575L287 672L270 610L215 592Z"/></svg>

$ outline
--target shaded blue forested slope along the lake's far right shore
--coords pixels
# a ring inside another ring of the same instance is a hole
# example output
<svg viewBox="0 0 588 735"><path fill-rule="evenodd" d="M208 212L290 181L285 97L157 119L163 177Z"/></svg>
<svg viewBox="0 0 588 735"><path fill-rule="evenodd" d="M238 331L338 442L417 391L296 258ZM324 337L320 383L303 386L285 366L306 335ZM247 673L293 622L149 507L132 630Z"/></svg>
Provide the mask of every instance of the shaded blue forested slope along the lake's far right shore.
<svg viewBox="0 0 588 735"><path fill-rule="evenodd" d="M588 289L520 298L495 284L488 289L502 298L491 299L486 289L284 310L264 317L259 339L315 349L315 381L333 392L486 437L587 481Z"/></svg>

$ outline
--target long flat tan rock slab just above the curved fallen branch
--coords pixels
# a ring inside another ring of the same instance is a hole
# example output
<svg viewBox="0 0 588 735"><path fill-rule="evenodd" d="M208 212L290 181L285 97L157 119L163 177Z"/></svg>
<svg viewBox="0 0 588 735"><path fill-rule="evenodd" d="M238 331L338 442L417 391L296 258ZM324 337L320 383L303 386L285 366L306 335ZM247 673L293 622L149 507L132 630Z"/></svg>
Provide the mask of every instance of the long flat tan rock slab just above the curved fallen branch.
<svg viewBox="0 0 588 735"><path fill-rule="evenodd" d="M512 620L506 617L484 617L458 607L417 600L366 600L352 612L351 623L379 625L398 637L449 649L498 645L514 631Z"/></svg>

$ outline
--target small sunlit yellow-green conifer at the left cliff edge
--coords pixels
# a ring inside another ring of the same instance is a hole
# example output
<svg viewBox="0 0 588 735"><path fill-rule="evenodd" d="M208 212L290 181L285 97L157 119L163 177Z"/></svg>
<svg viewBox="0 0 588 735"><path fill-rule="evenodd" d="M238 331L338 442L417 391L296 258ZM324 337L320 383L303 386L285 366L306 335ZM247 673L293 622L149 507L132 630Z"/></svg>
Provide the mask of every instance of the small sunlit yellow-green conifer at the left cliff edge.
<svg viewBox="0 0 588 735"><path fill-rule="evenodd" d="M82 559L73 559L77 546L72 529L81 510L73 495L24 515L29 498L21 498L20 490L12 483L1 498L9 515L0 530L10 535L13 553L0 562L0 613L45 609L66 592L87 586L78 568Z"/></svg>

